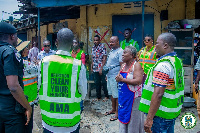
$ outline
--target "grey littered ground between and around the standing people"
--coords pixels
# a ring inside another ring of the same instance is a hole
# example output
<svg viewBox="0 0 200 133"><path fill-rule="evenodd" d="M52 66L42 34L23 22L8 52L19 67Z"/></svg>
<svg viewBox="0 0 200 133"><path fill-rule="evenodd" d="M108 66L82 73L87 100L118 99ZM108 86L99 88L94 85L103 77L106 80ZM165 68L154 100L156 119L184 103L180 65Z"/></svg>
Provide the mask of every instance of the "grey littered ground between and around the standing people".
<svg viewBox="0 0 200 133"><path fill-rule="evenodd" d="M94 96L92 98L94 98ZM108 100L106 102L103 102L101 100L97 102L92 102L91 99L86 100L84 102L85 109L82 113L80 133L118 133L119 121L116 120L111 122L110 121L111 115L109 116L104 115L106 111L111 110L111 101ZM181 126L180 118L186 112L193 113L196 117L198 116L195 107L183 108L181 115L176 119L175 133L197 133L198 131L200 131L199 119L197 119L197 124L193 129L184 129ZM39 106L37 106L35 107L34 111L33 133L41 133L41 132L42 132L42 125L41 125L40 109Z"/></svg>

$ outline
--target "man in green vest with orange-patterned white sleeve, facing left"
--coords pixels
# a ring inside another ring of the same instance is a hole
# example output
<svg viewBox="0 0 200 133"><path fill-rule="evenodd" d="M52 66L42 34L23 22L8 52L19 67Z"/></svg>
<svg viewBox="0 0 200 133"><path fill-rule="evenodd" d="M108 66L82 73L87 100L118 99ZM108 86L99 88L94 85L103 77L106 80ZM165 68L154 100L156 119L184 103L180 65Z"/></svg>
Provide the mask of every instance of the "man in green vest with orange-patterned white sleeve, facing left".
<svg viewBox="0 0 200 133"><path fill-rule="evenodd" d="M175 46L176 37L171 33L157 39L155 50L160 58L147 74L139 105L140 111L148 113L146 132L174 133L184 100L183 64L174 52Z"/></svg>

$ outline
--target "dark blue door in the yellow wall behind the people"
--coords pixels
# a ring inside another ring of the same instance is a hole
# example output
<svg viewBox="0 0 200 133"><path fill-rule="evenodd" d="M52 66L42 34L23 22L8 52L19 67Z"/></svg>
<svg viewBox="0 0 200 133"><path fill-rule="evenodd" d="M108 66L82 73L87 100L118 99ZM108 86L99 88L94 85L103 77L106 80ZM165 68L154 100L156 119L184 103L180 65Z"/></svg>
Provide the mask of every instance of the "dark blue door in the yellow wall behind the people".
<svg viewBox="0 0 200 133"><path fill-rule="evenodd" d="M144 39L142 38L142 14L112 16L112 33L113 36L119 37L119 41L124 40L122 33L126 28L131 30L136 28L132 33L132 38L138 41L140 48L142 48ZM146 34L154 35L154 14L144 15L144 36Z"/></svg>

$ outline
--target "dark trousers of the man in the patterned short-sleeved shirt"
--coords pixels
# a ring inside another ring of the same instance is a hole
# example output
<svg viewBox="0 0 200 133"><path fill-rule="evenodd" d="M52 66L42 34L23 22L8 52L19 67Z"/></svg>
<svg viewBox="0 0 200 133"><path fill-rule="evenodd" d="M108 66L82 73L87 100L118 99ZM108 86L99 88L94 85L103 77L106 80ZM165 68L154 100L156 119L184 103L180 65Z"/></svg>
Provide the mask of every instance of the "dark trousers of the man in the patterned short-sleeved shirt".
<svg viewBox="0 0 200 133"><path fill-rule="evenodd" d="M95 86L96 86L96 96L98 99L101 98L101 85L103 86L103 91L105 94L105 97L109 97L108 96L108 90L107 90L107 82L105 79L105 75L102 74L100 75L99 72L94 72L94 82L95 82Z"/></svg>

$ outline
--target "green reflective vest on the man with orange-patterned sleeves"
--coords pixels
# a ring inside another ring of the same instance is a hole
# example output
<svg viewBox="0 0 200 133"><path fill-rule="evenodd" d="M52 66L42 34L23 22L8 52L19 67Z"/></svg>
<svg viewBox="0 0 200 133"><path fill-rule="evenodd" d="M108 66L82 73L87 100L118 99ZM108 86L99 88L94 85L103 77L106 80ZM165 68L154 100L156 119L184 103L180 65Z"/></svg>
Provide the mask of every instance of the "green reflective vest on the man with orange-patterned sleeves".
<svg viewBox="0 0 200 133"><path fill-rule="evenodd" d="M168 61L174 68L175 89L165 89L160 107L155 115L165 119L173 119L179 116L184 100L184 70L182 61L177 56L166 56L150 68L143 87L139 110L145 113L149 111L151 97L154 92L154 85L152 84L153 70L163 61Z"/></svg>

